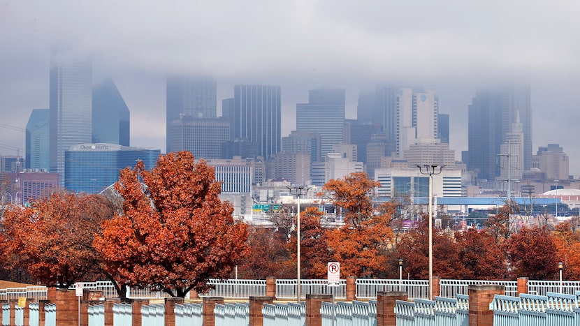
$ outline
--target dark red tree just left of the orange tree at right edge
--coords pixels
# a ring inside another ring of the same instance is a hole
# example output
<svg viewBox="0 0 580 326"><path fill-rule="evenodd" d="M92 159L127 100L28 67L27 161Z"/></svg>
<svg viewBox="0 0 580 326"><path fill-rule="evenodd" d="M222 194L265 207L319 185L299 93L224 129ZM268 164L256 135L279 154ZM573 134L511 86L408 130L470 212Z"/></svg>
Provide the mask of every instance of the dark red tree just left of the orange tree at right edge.
<svg viewBox="0 0 580 326"><path fill-rule="evenodd" d="M505 242L512 278L551 280L558 274L556 244L549 230L522 228Z"/></svg>

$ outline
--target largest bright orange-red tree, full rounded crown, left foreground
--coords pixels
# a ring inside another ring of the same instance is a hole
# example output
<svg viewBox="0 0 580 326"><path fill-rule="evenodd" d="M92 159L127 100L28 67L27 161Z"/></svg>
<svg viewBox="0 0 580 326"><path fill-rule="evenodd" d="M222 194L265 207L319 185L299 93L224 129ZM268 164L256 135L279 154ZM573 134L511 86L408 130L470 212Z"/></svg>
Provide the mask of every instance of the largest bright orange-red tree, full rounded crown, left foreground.
<svg viewBox="0 0 580 326"><path fill-rule="evenodd" d="M159 156L151 171L139 161L115 189L122 214L103 223L94 246L119 283L184 297L208 290L208 279L227 279L245 255L246 225L219 200L213 168L191 152Z"/></svg>

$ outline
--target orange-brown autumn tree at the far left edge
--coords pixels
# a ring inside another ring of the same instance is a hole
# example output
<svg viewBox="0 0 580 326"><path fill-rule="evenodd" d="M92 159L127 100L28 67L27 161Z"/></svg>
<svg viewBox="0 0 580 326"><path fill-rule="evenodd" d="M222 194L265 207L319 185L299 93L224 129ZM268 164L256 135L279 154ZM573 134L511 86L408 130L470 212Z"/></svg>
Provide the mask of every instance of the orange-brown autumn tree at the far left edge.
<svg viewBox="0 0 580 326"><path fill-rule="evenodd" d="M92 242L101 222L113 214L101 195L53 193L33 207L11 206L4 214L6 263L59 288L103 277Z"/></svg>

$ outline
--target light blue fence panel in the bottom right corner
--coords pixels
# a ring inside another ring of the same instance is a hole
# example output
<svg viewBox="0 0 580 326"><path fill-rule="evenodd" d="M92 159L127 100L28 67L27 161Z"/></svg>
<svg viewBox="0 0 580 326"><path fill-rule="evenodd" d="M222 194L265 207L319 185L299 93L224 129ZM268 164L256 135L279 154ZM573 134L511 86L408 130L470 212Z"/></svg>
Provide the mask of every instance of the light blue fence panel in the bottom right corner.
<svg viewBox="0 0 580 326"><path fill-rule="evenodd" d="M574 326L580 323L577 319L578 300L576 295L547 292L548 307L546 325Z"/></svg>

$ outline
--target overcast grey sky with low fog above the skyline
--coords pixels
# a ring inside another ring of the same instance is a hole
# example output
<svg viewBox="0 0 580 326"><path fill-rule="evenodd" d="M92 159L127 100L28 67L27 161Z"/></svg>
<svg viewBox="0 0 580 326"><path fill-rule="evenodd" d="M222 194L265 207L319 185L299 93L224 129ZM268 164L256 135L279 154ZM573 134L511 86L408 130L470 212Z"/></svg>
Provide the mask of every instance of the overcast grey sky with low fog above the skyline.
<svg viewBox="0 0 580 326"><path fill-rule="evenodd" d="M215 75L218 110L238 83L282 86L282 135L315 87L344 87L347 117L375 82L434 89L467 149L482 85L529 83L533 151L558 143L580 176L580 3L570 0L0 0L0 154L24 155L48 108L52 45L93 57L131 110L131 146L165 150L167 73Z"/></svg>

